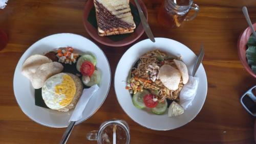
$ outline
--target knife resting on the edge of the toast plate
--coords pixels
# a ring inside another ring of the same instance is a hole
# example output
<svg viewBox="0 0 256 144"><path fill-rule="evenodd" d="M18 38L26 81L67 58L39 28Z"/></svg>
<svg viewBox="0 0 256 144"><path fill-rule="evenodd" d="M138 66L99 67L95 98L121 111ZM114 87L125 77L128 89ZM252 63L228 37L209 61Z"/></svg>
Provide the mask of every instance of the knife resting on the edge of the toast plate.
<svg viewBox="0 0 256 144"><path fill-rule="evenodd" d="M138 11L139 11L139 15L140 15L140 19L141 19L141 23L142 23L142 26L145 30L145 33L147 35L148 38L150 38L151 41L153 42L156 42L155 38L154 38L154 35L150 29L150 25L148 25L147 21L146 21L146 18L145 18L145 15L143 14L143 11L140 7L140 4L138 2L138 0L135 0L135 4L138 8Z"/></svg>

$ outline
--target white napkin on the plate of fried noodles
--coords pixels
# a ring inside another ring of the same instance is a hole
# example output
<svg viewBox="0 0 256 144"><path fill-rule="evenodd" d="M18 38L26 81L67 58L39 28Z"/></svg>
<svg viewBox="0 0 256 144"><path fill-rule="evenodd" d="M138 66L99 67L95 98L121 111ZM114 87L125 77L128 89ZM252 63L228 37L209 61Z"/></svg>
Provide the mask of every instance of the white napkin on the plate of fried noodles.
<svg viewBox="0 0 256 144"><path fill-rule="evenodd" d="M179 104L184 108L187 109L188 106L192 105L192 101L197 94L199 78L189 76L188 82L183 86L180 91L180 101Z"/></svg>

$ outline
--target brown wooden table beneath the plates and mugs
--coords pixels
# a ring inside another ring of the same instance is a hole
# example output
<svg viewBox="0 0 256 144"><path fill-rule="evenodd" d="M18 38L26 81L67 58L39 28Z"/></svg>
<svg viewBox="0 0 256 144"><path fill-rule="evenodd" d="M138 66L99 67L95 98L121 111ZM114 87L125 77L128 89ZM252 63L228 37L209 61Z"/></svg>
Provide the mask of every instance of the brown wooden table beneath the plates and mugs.
<svg viewBox="0 0 256 144"><path fill-rule="evenodd" d="M254 143L254 118L239 100L256 80L240 63L237 40L247 27L242 6L248 7L251 20L256 21L256 1L195 0L200 6L197 18L184 22L179 29L158 25L160 0L144 0L144 3L155 37L175 39L195 53L199 52L201 43L204 44L208 92L201 112L187 125L171 131L153 131L138 125L121 109L113 87L118 60L131 45L109 47L97 43L111 65L110 92L88 121L75 126L68 143L96 143L88 141L86 134L113 117L129 124L131 143ZM7 47L0 51L0 143L59 142L65 129L41 126L20 110L13 94L13 74L19 58L40 38L55 33L75 33L94 41L83 27L85 4L86 0L15 0L0 10L0 28L9 35ZM143 39L145 34L136 42Z"/></svg>

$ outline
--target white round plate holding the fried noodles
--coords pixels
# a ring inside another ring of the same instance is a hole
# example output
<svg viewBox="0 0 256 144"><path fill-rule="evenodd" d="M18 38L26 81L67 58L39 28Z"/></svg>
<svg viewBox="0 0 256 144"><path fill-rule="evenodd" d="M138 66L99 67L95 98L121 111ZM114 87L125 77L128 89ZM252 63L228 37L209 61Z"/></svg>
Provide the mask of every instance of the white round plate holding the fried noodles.
<svg viewBox="0 0 256 144"><path fill-rule="evenodd" d="M172 130L179 128L193 118L201 110L207 93L207 78L203 65L197 70L196 77L199 77L199 86L193 105L188 107L182 115L168 117L167 111L163 115L153 114L146 110L136 108L132 103L132 97L128 90L125 89L126 79L131 67L139 57L148 51L160 49L174 56L182 56L182 61L187 65L189 74L192 73L196 55L184 44L167 38L155 38L153 43L149 39L140 41L127 50L120 59L115 73L115 91L119 104L135 122L148 129L153 130Z"/></svg>

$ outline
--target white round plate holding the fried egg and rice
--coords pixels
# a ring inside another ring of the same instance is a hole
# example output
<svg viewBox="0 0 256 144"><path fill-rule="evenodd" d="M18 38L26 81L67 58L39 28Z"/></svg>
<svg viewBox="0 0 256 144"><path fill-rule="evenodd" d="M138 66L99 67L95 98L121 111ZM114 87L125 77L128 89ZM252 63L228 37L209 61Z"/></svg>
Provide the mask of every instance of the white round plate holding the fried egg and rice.
<svg viewBox="0 0 256 144"><path fill-rule="evenodd" d="M14 73L13 89L17 103L22 111L36 123L48 127L67 127L73 110L70 110L69 112L58 112L56 110L36 106L34 88L32 87L29 79L22 75L22 65L31 55L44 55L58 47L65 46L74 47L75 51L79 54L94 54L97 57L96 67L102 74L99 90L95 93L94 97L90 99L86 110L83 111L82 118L76 124L88 119L99 109L108 95L110 88L111 72L108 59L101 49L92 41L80 35L69 33L55 34L38 40L31 45L19 59Z"/></svg>

